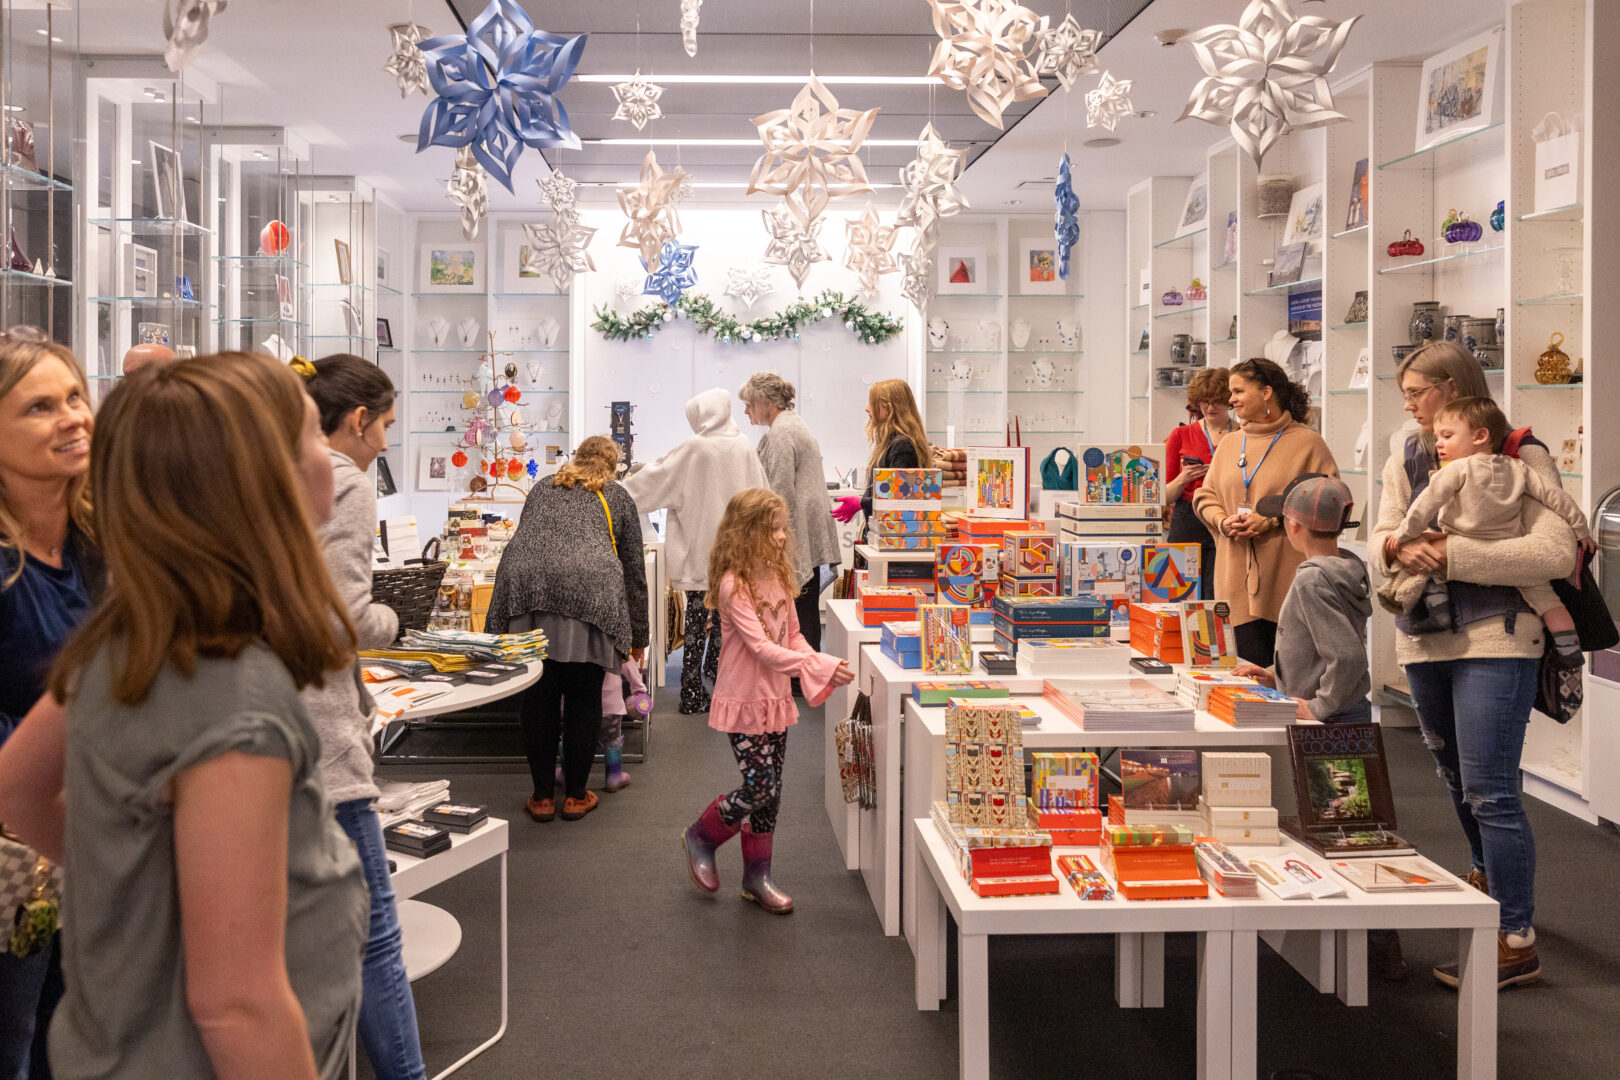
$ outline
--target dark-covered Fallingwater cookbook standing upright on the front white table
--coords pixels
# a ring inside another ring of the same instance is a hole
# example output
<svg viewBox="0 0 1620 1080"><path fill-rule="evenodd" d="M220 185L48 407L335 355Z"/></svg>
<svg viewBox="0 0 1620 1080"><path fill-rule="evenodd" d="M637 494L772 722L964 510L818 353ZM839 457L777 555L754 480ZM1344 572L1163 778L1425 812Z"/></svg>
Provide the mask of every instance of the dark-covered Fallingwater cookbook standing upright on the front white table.
<svg viewBox="0 0 1620 1080"><path fill-rule="evenodd" d="M1377 724L1302 724L1288 729L1299 818L1278 824L1322 855L1411 850L1395 836L1395 797Z"/></svg>

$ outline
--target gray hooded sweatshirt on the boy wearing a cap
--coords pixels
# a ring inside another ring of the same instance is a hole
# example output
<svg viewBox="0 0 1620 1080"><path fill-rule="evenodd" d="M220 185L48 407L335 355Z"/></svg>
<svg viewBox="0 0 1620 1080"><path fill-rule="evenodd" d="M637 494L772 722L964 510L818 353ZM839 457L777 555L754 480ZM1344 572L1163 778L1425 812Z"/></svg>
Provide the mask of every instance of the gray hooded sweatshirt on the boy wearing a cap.
<svg viewBox="0 0 1620 1080"><path fill-rule="evenodd" d="M1277 617L1277 688L1325 721L1372 690L1367 675L1367 565L1348 551L1299 563Z"/></svg>

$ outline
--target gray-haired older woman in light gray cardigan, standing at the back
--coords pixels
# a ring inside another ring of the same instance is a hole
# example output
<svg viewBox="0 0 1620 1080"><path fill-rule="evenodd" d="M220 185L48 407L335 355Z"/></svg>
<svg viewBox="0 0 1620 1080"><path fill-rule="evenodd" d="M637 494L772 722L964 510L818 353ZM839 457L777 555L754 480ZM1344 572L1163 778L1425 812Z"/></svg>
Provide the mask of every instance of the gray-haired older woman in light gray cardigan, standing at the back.
<svg viewBox="0 0 1620 1080"><path fill-rule="evenodd" d="M794 576L802 583L794 610L812 649L821 648L821 567L842 562L838 526L826 497L821 444L794 411L794 384L774 372L750 376L742 389L744 415L768 431L760 439L760 465L771 491L787 500Z"/></svg>

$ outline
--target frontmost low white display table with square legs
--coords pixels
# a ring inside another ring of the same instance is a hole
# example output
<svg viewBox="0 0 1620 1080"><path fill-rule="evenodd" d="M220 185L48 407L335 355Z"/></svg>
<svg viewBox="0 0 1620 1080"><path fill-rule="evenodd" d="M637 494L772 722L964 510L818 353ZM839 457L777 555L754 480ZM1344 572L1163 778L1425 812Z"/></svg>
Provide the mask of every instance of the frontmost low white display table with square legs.
<svg viewBox="0 0 1620 1080"><path fill-rule="evenodd" d="M1199 934L1197 1075L1200 1080L1254 1080L1259 939L1277 931L1332 931L1359 939L1366 954L1367 929L1456 929L1463 983L1456 999L1458 1080L1495 1080L1497 1075L1497 902L1452 878L1445 892L1367 894L1345 882L1333 900L1278 900L1262 886L1260 897L1228 900L1081 900L1068 882L1056 895L980 897L957 871L933 821L910 823L922 853L919 876L917 1007L933 1010L944 997L946 910L959 934L957 993L961 1075L990 1075L990 934ZM1095 848L1056 848L1056 855ZM1277 858L1286 853L1338 879L1315 855L1293 842L1281 847L1233 847L1239 858ZM1056 866L1055 866L1056 870ZM1116 967L1116 997L1124 1002Z"/></svg>

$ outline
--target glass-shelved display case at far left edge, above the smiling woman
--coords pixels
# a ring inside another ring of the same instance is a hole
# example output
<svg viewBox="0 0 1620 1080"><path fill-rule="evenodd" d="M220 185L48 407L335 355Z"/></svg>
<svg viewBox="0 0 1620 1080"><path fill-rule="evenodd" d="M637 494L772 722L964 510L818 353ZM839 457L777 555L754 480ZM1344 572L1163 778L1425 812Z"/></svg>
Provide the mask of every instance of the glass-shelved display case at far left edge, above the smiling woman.
<svg viewBox="0 0 1620 1080"><path fill-rule="evenodd" d="M73 176L81 141L73 74L79 13L5 5L0 34L0 327L75 342ZM37 270L37 272L36 272Z"/></svg>

